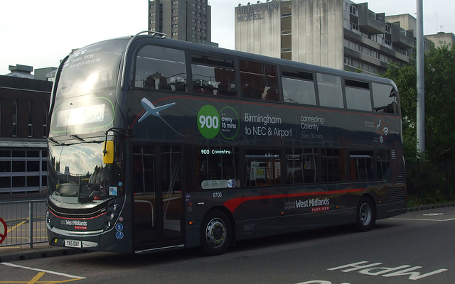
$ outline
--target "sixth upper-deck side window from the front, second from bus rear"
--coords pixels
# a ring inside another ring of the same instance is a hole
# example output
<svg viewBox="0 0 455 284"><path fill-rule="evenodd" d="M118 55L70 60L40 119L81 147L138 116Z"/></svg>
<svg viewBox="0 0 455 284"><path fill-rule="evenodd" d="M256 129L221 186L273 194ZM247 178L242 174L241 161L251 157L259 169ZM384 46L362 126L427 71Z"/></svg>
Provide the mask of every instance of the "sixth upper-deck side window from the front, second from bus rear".
<svg viewBox="0 0 455 284"><path fill-rule="evenodd" d="M346 107L359 111L371 111L370 86L368 82L345 80Z"/></svg>

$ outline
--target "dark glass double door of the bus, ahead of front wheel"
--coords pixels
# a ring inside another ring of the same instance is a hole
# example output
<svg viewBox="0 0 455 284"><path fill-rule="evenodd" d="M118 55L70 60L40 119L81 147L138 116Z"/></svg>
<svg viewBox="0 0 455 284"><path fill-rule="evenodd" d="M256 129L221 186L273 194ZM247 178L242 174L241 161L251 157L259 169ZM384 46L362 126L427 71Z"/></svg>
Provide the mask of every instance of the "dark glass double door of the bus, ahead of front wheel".
<svg viewBox="0 0 455 284"><path fill-rule="evenodd" d="M183 244L180 146L133 146L134 247Z"/></svg>

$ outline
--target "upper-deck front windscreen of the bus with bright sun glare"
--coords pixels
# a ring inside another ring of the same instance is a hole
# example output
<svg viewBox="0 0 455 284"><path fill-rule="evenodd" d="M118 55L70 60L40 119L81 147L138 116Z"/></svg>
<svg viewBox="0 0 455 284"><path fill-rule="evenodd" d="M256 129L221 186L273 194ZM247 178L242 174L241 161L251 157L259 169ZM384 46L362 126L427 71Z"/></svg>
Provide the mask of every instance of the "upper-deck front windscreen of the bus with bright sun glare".
<svg viewBox="0 0 455 284"><path fill-rule="evenodd" d="M107 40L72 53L58 80L59 99L114 88L127 43L127 39Z"/></svg>

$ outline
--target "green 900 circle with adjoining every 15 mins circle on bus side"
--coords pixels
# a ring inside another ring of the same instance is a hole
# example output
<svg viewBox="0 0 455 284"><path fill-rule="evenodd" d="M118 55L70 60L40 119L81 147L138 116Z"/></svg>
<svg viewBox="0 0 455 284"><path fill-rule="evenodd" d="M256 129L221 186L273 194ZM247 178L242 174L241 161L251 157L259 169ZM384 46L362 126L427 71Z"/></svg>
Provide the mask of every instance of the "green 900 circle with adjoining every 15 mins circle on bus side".
<svg viewBox="0 0 455 284"><path fill-rule="evenodd" d="M197 116L199 132L211 139L220 133L226 139L233 139L240 130L240 119L232 107L224 107L220 112L210 104L201 107Z"/></svg>

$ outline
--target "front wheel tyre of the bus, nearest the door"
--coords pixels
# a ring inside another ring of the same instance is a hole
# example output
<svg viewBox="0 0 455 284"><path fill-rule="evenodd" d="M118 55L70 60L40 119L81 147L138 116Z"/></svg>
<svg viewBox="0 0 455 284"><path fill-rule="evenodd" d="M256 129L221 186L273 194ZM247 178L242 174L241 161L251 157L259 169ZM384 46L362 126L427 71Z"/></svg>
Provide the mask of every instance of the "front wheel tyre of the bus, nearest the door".
<svg viewBox="0 0 455 284"><path fill-rule="evenodd" d="M207 256L225 253L232 241L232 224L225 212L214 210L203 219L200 231L200 249Z"/></svg>

